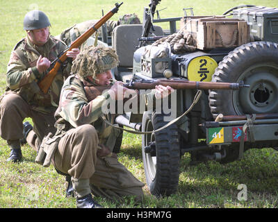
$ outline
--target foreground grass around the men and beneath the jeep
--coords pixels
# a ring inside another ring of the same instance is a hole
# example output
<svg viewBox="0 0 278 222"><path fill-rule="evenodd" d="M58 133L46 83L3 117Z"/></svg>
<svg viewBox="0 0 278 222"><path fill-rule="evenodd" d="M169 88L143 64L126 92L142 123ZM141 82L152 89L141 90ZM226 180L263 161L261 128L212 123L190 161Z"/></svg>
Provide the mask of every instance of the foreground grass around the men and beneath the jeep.
<svg viewBox="0 0 278 222"><path fill-rule="evenodd" d="M140 137L124 133L119 160L142 182L144 166ZM1 207L75 207L75 198L65 198L65 177L54 167L34 164L35 151L22 148L24 160L6 162L8 147L1 141L0 206ZM154 198L144 187L141 205L111 203L101 198L104 207L278 207L278 153L270 148L250 150L241 161L229 164L206 162L190 166L190 156L181 158L181 174L177 194ZM238 200L238 185L247 186L247 200Z"/></svg>

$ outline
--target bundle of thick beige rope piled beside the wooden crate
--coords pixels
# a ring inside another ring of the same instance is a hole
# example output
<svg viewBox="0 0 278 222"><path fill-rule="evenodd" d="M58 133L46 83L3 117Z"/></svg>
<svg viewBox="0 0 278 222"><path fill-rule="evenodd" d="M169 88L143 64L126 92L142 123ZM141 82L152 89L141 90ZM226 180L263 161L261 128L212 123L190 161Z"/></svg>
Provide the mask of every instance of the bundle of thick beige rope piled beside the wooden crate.
<svg viewBox="0 0 278 222"><path fill-rule="evenodd" d="M157 40L152 45L158 46L163 42L168 42L171 46L172 53L180 54L196 50L196 46L193 37L185 28L181 29L178 33L168 35L160 40Z"/></svg>

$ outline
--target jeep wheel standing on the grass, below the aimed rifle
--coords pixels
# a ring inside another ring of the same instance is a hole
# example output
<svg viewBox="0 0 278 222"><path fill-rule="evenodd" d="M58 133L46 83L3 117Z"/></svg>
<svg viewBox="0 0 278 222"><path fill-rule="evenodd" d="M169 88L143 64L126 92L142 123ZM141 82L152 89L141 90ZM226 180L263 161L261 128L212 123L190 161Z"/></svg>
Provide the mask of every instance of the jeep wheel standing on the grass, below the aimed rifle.
<svg viewBox="0 0 278 222"><path fill-rule="evenodd" d="M144 112L142 131L152 131L167 123L163 114ZM146 146L155 142L152 151ZM142 159L147 185L154 196L169 196L179 184L180 148L177 125L172 124L157 133L142 135Z"/></svg>

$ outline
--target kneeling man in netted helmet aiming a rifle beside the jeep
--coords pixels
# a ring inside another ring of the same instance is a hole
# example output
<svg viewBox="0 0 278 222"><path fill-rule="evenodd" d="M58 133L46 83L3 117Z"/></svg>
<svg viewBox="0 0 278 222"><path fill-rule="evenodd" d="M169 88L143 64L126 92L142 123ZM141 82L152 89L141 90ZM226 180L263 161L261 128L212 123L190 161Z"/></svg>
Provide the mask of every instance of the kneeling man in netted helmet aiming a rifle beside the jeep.
<svg viewBox="0 0 278 222"><path fill-rule="evenodd" d="M131 89L116 82L101 95L92 93L94 89L98 92L97 86L111 84L111 69L117 64L117 55L109 47L99 45L79 53L73 62L73 75L65 80L60 94L55 114L57 132L44 137L36 158L44 167L52 162L58 171L71 176L77 207L99 207L91 192L112 199L135 196L140 201L143 197L144 184L117 161L112 153L115 133L100 118L106 101L122 100ZM156 98L163 92L169 94L170 89L158 87ZM42 149L47 157L40 160Z"/></svg>

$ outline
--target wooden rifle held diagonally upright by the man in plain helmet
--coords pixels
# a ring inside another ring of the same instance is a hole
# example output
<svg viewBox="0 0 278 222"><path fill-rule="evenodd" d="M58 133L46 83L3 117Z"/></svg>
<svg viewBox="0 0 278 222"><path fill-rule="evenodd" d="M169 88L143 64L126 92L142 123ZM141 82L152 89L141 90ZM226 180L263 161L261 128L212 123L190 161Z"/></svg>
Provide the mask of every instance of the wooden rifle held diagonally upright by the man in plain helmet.
<svg viewBox="0 0 278 222"><path fill-rule="evenodd" d="M72 44L67 49L67 51L72 50L74 48L78 48L79 46L81 46L81 44L83 44L83 42L88 40L88 38L92 34L94 34L99 27L101 27L104 23L107 22L108 19L110 19L115 13L117 13L117 10L120 8L121 5L122 5L122 3L120 3L120 4L115 3L115 8L113 8L110 12L108 12L106 15L104 15L104 17L99 19L99 21L97 21L97 23L95 23L92 27L90 27L87 31L85 31L85 33L83 33L76 40L74 40L74 42L72 42ZM67 51L65 51L65 53L63 53L63 55L60 56L58 61L55 63L54 67L38 83L40 89L42 89L42 92L44 92L44 94L47 93L49 87L51 86L51 83L53 82L53 80L54 80L54 78L55 78L55 76L58 72L58 69L60 68L60 65L63 62L65 62L65 60L67 59L67 55L66 55Z"/></svg>

